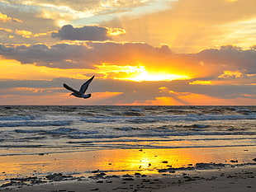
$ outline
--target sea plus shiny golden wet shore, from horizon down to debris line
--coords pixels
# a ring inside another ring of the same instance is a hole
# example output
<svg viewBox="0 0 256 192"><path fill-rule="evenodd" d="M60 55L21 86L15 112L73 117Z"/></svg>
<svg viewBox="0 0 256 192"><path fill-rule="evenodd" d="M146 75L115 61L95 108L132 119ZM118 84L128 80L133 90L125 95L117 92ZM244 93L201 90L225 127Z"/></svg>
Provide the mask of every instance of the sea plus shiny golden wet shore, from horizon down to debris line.
<svg viewBox="0 0 256 192"><path fill-rule="evenodd" d="M0 106L0 180L35 169L83 174L148 170L165 160L254 162L255 146L256 106Z"/></svg>

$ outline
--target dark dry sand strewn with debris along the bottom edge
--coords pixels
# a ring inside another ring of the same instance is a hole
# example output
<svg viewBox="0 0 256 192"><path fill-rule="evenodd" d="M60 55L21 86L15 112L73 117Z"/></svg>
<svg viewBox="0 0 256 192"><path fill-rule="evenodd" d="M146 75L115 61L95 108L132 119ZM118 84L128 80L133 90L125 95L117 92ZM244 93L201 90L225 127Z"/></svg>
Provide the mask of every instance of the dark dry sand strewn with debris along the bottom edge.
<svg viewBox="0 0 256 192"><path fill-rule="evenodd" d="M206 163L208 165L209 163ZM182 168L182 167L181 167ZM44 184L31 185L10 185L0 188L0 191L20 191L20 192L86 192L86 191L218 191L218 192L246 192L256 189L256 164L201 169L190 171L159 172L149 176L135 173L123 176L105 175L105 173L95 173L92 177L80 177L68 179L58 174L52 175L52 181ZM58 181L58 178L65 178Z"/></svg>

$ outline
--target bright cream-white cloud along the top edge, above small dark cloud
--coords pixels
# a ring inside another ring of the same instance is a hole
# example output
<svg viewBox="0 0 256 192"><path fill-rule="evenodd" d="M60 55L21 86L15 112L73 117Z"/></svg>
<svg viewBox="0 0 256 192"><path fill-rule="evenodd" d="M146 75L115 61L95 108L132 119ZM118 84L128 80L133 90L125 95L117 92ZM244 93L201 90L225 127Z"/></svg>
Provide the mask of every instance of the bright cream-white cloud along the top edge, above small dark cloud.
<svg viewBox="0 0 256 192"><path fill-rule="evenodd" d="M25 12L29 15L33 12L36 16L24 19L23 21L45 19L45 21L55 21L55 25L64 26L71 23L84 23L88 21L89 17L102 16L104 20L112 14L119 14L120 12L130 12L135 7L140 7L147 4L145 0L73 0L73 1L52 1L52 0L16 0L12 2L0 1L1 8L6 12L12 12L17 10L18 12ZM13 12L15 15L20 15L17 12ZM9 14L7 14L9 15ZM12 14L11 14L12 15ZM23 17L26 14L22 14ZM20 17L17 17L20 18ZM83 20L83 21L82 21ZM37 22L40 23L40 22ZM95 24L92 22L90 24ZM43 26L43 25L40 25ZM27 29L26 29L27 30ZM52 29L50 29L52 30Z"/></svg>

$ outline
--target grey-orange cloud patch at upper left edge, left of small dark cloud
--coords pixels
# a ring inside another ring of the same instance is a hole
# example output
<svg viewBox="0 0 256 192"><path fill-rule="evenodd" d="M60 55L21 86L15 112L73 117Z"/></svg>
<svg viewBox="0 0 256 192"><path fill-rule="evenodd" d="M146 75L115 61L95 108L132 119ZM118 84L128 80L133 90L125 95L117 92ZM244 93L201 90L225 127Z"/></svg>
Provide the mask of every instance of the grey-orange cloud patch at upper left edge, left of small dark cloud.
<svg viewBox="0 0 256 192"><path fill-rule="evenodd" d="M28 2L28 1L22 1ZM34 5L19 4L18 1L7 3L0 1L0 12L12 18L18 18L18 21L2 21L1 28L8 31L0 31L1 43L6 44L37 44L48 43L55 44L59 40L51 38L48 31L56 30L56 17L45 19L40 16L41 9ZM12 25L10 25L12 24ZM46 35L36 35L46 33ZM11 37L11 38L10 38Z"/></svg>

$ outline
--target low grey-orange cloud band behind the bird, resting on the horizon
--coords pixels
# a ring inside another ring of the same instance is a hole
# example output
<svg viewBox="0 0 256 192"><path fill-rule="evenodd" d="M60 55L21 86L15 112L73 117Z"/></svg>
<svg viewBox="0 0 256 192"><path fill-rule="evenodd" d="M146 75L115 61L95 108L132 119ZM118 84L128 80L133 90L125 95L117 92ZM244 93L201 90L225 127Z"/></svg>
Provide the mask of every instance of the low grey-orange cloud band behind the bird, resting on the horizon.
<svg viewBox="0 0 256 192"><path fill-rule="evenodd" d="M26 101L30 99L31 105L38 105L40 100L47 105L45 99L50 104L57 102L59 105L243 105L249 102L252 105L256 96L255 85L191 85L188 80L127 82L95 78L88 88L88 92L92 92L92 100L85 102L69 96L69 91L62 86L67 83L71 87L79 88L84 81L73 78L0 81L0 104L4 105L3 101L13 99L17 105L21 105L22 102L17 102L17 96L21 96L23 99L27 97ZM5 100L1 102L3 97Z"/></svg>

